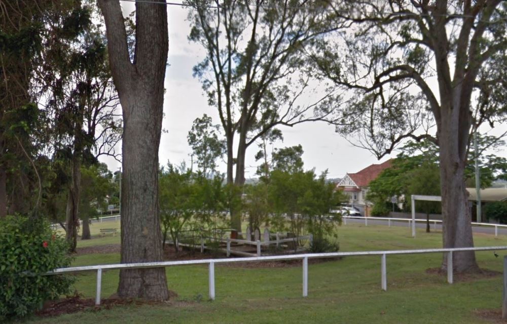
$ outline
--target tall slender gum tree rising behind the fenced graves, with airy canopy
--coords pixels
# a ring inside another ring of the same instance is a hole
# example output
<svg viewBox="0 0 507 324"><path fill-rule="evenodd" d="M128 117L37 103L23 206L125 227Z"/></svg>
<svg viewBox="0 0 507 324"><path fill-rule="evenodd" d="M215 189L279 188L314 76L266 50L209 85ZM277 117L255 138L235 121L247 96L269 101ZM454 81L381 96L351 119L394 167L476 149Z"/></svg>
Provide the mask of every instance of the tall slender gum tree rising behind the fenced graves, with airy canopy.
<svg viewBox="0 0 507 324"><path fill-rule="evenodd" d="M187 4L194 9L189 14L189 39L206 51L194 75L201 80L209 105L219 112L226 137L227 182L240 187L245 182L246 150L275 126L336 121L330 109L336 93L308 104L301 100L307 101L315 90L305 73L305 50L338 27L327 19L323 2L188 0ZM231 217L232 227L241 230L240 213L231 211Z"/></svg>

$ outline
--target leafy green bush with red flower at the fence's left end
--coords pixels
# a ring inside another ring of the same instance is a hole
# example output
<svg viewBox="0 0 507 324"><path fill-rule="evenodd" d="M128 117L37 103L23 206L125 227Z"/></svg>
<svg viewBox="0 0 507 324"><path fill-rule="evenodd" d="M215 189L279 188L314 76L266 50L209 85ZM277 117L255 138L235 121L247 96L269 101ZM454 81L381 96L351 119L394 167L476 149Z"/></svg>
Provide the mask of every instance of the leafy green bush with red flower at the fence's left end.
<svg viewBox="0 0 507 324"><path fill-rule="evenodd" d="M69 276L41 275L69 266L67 249L47 222L23 216L0 219L0 322L30 314L69 292Z"/></svg>

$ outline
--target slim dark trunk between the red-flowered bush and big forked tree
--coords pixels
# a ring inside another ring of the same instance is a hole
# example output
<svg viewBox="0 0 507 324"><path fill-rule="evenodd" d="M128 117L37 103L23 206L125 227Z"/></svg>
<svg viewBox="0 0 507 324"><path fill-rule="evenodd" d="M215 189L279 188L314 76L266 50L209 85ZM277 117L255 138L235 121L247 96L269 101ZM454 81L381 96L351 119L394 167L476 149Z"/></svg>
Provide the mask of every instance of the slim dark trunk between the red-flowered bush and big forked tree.
<svg viewBox="0 0 507 324"><path fill-rule="evenodd" d="M79 227L79 196L81 185L81 163L79 156L74 153L71 160L71 183L67 195L67 207L65 209L65 222L67 231L65 238L69 244L69 252L75 253Z"/></svg>

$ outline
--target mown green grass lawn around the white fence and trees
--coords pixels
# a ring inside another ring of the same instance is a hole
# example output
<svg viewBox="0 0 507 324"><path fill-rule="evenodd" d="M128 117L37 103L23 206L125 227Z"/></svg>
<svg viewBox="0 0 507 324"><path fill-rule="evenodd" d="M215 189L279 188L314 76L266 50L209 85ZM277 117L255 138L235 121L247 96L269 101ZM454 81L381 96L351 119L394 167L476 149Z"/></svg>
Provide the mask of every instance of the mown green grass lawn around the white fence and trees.
<svg viewBox="0 0 507 324"><path fill-rule="evenodd" d="M107 224L108 227L110 224ZM103 226L102 226L103 227ZM100 227L97 227L100 228ZM119 226L118 226L119 228ZM408 227L348 224L338 228L340 251L440 248L442 234ZM475 234L476 247L507 246L507 236ZM80 241L78 247L119 242L119 236ZM498 251L503 256L507 251ZM502 258L478 252L482 268L502 271ZM74 265L118 263L118 254L82 255ZM479 313L501 308L502 276L457 280L426 273L442 254L387 256L387 292L380 289L380 257L347 257L309 265L308 297L302 267L240 268L215 265L216 300L208 301L207 266L166 268L178 294L167 305L117 306L26 323L489 323ZM102 297L115 293L118 271L102 274ZM80 274L75 288L94 298L95 273Z"/></svg>

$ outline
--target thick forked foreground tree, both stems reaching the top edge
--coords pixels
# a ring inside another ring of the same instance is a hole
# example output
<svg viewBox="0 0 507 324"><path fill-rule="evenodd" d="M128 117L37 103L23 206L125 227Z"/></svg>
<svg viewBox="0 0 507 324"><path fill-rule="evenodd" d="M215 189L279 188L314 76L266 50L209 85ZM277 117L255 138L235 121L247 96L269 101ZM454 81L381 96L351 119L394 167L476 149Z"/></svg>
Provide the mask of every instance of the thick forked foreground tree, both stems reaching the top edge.
<svg viewBox="0 0 507 324"><path fill-rule="evenodd" d="M162 261L158 206L158 150L167 63L164 1L135 3L135 50L129 57L118 0L99 0L113 80L123 109L121 262ZM163 268L120 271L118 296L168 299Z"/></svg>

